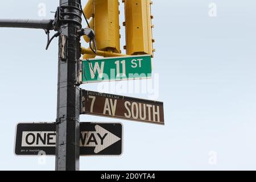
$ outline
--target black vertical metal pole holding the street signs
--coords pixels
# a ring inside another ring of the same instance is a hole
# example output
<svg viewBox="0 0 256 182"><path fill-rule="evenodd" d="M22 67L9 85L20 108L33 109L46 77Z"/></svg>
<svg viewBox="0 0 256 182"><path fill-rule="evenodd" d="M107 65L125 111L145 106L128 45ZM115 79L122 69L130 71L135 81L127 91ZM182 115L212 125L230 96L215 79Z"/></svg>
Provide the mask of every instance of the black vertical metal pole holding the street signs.
<svg viewBox="0 0 256 182"><path fill-rule="evenodd" d="M60 0L60 36L57 90L56 170L79 170L80 88L77 64L81 56L81 0Z"/></svg>

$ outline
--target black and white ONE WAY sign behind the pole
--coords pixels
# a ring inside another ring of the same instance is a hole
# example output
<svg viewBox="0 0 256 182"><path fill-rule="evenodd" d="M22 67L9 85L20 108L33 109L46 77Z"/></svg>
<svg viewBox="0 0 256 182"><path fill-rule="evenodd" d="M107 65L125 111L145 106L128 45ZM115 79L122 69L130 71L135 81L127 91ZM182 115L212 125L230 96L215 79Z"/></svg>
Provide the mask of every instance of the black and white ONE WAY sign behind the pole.
<svg viewBox="0 0 256 182"><path fill-rule="evenodd" d="M80 155L121 155L122 123L80 123ZM55 155L56 123L19 123L16 155Z"/></svg>

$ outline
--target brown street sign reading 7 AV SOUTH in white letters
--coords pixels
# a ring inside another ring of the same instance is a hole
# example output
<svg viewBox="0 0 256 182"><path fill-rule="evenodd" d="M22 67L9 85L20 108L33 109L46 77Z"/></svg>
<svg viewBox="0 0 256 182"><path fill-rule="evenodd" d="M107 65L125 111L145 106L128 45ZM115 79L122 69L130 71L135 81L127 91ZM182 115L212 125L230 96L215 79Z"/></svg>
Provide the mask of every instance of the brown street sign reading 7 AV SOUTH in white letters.
<svg viewBox="0 0 256 182"><path fill-rule="evenodd" d="M164 125L163 102L82 90L81 114Z"/></svg>

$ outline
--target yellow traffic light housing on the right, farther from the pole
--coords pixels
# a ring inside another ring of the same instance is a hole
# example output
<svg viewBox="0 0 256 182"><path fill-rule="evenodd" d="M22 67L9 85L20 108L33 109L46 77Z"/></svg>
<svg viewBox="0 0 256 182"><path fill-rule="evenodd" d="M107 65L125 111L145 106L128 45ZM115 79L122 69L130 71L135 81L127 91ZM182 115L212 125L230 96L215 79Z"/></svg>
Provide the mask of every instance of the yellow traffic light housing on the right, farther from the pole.
<svg viewBox="0 0 256 182"><path fill-rule="evenodd" d="M154 56L152 43L151 0L122 0L125 3L127 55Z"/></svg>

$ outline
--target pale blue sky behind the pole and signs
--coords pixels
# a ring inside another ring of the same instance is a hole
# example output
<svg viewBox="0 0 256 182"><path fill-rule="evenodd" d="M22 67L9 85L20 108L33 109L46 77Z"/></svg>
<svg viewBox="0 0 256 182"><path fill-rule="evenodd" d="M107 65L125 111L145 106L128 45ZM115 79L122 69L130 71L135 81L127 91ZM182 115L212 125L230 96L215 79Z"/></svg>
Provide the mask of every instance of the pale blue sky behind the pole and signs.
<svg viewBox="0 0 256 182"><path fill-rule="evenodd" d="M212 2L214 18L208 15ZM39 3L46 3L46 17L38 16ZM3 1L0 18L53 18L49 12L58 3ZM255 170L255 7L253 0L154 1L153 65L166 126L82 115L81 121L122 122L125 135L121 157L82 157L80 169ZM123 14L122 3L120 10ZM123 32L122 27L122 46ZM45 47L42 30L0 28L0 169L55 169L54 157L39 165L37 157L13 152L16 123L56 119L57 39L48 51ZM81 87L97 90L97 85ZM217 152L214 166L210 151Z"/></svg>

